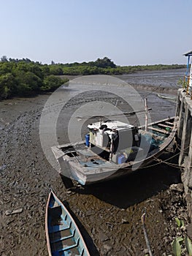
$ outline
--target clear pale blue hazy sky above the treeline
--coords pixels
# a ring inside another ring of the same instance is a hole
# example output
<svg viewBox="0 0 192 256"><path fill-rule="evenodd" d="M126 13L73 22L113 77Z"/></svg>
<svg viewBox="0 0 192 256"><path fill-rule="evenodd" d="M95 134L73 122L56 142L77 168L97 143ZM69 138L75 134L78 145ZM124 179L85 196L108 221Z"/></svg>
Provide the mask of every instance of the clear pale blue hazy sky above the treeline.
<svg viewBox="0 0 192 256"><path fill-rule="evenodd" d="M185 64L191 13L191 0L1 0L0 56Z"/></svg>

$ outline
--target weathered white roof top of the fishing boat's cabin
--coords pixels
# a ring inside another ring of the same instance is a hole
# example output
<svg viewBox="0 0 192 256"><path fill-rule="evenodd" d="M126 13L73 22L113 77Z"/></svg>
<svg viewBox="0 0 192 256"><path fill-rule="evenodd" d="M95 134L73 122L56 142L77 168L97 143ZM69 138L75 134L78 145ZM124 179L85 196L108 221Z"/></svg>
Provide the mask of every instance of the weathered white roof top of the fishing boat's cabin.
<svg viewBox="0 0 192 256"><path fill-rule="evenodd" d="M104 122L96 122L93 124L88 124L88 128L89 129L99 129L101 127L101 125L107 125L107 128L109 129L116 129L116 130L120 130L120 129L131 129L134 127L134 125L131 124L126 124L123 123L121 121L104 121Z"/></svg>

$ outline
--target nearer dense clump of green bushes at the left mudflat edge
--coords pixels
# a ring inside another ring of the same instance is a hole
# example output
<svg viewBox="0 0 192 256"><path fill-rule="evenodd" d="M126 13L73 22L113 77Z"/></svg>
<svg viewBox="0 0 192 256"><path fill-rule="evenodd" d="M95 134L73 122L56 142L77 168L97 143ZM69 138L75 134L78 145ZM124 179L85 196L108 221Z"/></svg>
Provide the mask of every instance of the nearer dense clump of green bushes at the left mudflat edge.
<svg viewBox="0 0 192 256"><path fill-rule="evenodd" d="M53 75L48 65L29 59L8 61L3 56L0 61L0 99L53 91L68 80Z"/></svg>

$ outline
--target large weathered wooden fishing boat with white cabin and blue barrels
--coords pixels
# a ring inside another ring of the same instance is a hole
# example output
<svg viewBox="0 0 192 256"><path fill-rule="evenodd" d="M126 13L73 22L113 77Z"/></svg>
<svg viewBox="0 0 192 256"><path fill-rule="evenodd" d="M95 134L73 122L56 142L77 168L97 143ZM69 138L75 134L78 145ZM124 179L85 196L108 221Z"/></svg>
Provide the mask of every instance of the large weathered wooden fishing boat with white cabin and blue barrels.
<svg viewBox="0 0 192 256"><path fill-rule="evenodd" d="M81 185L125 176L153 162L174 140L177 118L143 127L120 121L88 125L85 141L53 146L60 174Z"/></svg>

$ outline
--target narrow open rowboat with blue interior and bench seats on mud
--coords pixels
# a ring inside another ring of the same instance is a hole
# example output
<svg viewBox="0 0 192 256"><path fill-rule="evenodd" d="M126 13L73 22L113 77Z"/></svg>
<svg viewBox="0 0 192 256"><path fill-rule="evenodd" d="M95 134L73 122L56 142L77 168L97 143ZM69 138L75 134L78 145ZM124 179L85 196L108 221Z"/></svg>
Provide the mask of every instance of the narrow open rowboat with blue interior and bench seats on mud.
<svg viewBox="0 0 192 256"><path fill-rule="evenodd" d="M74 219L52 191L47 200L45 232L50 256L90 255Z"/></svg>

